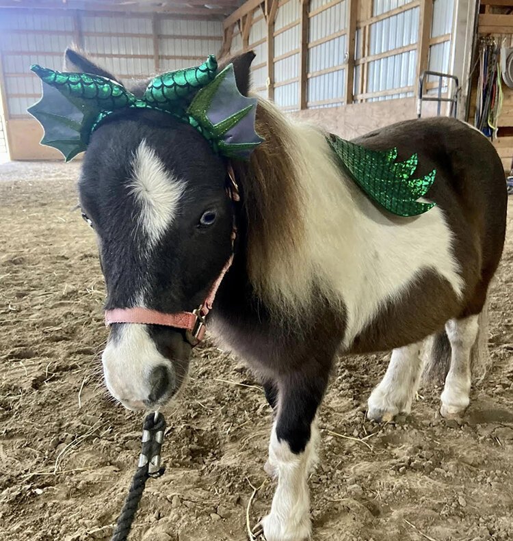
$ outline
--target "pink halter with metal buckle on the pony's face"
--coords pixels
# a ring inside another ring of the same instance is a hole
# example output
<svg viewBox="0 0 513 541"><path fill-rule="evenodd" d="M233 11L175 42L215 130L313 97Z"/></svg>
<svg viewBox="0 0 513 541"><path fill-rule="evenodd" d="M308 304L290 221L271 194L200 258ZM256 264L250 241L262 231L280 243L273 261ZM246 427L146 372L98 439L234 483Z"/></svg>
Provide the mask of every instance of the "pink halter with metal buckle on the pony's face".
<svg viewBox="0 0 513 541"><path fill-rule="evenodd" d="M231 163L228 163L228 177L230 183L226 188L228 196L234 202L238 202L239 187L235 182L235 174ZM237 228L235 223L232 230L232 250L235 244L235 237L237 236ZM150 310L149 308L135 307L135 308L113 308L112 310L105 311L105 326L109 326L113 323L137 323L144 325L165 325L168 327L175 327L177 329L185 329L185 336L187 341L194 347L205 336L205 317L211 311L215 294L218 292L222 279L233 262L233 253L228 261L224 265L221 274L217 280L213 282L213 285L205 299L196 310L192 312L177 312L174 314L168 314L159 312L157 310Z"/></svg>

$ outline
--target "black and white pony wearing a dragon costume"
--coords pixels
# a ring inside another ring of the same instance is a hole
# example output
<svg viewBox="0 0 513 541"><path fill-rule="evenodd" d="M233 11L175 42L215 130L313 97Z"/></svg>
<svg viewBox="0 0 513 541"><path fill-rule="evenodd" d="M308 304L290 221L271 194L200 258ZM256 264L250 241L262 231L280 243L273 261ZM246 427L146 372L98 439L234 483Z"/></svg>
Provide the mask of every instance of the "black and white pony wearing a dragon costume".
<svg viewBox="0 0 513 541"><path fill-rule="evenodd" d="M114 79L73 51L66 57L70 71ZM233 60L246 95L253 57ZM346 178L319 129L262 100L257 133L265 142L250 161L229 164L167 114L113 114L91 137L79 196L98 237L107 309L192 311L231 256L235 214L235 257L208 326L261 375L275 410L266 469L278 484L265 537L302 541L311 535L315 419L338 353L393 349L368 411L392 419L410 412L421 345L434 337L432 362L450 356L441 412L468 406L507 196L494 148L457 120L401 122L357 141L397 147L399 159L419 153L419 175L436 169L428 193L436 207L410 218L378 209ZM232 165L238 204L226 195ZM127 408L158 408L179 390L190 352L183 330L114 324L105 382Z"/></svg>

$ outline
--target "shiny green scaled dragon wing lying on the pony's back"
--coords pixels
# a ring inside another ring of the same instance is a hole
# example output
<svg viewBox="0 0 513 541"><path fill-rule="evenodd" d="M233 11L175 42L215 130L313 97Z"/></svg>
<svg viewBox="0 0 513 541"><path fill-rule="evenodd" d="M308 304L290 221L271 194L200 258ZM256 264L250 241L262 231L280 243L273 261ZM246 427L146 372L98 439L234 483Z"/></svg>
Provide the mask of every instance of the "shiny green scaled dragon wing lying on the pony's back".
<svg viewBox="0 0 513 541"><path fill-rule="evenodd" d="M413 179L419 158L412 155L397 162L397 148L380 152L369 150L337 135L328 143L337 155L339 165L363 189L367 196L387 211L399 216L416 216L432 209L433 202L420 202L436 176L436 170Z"/></svg>

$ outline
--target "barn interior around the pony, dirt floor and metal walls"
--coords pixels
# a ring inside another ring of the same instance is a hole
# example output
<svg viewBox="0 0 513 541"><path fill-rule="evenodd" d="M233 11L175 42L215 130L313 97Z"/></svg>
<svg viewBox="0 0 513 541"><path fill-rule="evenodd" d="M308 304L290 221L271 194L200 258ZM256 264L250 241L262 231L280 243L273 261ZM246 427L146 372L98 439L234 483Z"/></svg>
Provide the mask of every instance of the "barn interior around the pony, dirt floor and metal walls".
<svg viewBox="0 0 513 541"><path fill-rule="evenodd" d="M105 288L76 181L27 113L31 64L78 47L123 81L254 51L252 91L350 139L456 116L497 149L513 192L513 0L0 0L0 539L110 539L140 449L140 414L101 375ZM499 54L500 53L500 54ZM486 182L486 179L484 179ZM511 198L510 198L511 199ZM513 539L513 236L490 293L492 368L462 421L376 425L365 400L389 354L341 359L312 474L315 540ZM239 541L272 500L272 411L239 360L207 340L167 414L166 474L131 539Z"/></svg>

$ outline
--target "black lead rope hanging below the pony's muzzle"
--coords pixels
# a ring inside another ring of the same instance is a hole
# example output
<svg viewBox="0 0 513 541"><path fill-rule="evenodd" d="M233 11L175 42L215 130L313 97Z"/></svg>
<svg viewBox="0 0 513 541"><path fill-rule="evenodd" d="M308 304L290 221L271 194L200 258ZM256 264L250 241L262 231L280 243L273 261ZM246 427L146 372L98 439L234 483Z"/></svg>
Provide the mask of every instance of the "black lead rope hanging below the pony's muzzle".
<svg viewBox="0 0 513 541"><path fill-rule="evenodd" d="M124 500L111 541L127 540L148 477L160 477L164 473L164 469L160 467L160 449L164 439L164 430L166 430L166 420L163 414L150 413L144 419L139 464L137 464L137 470L133 475L129 493Z"/></svg>

